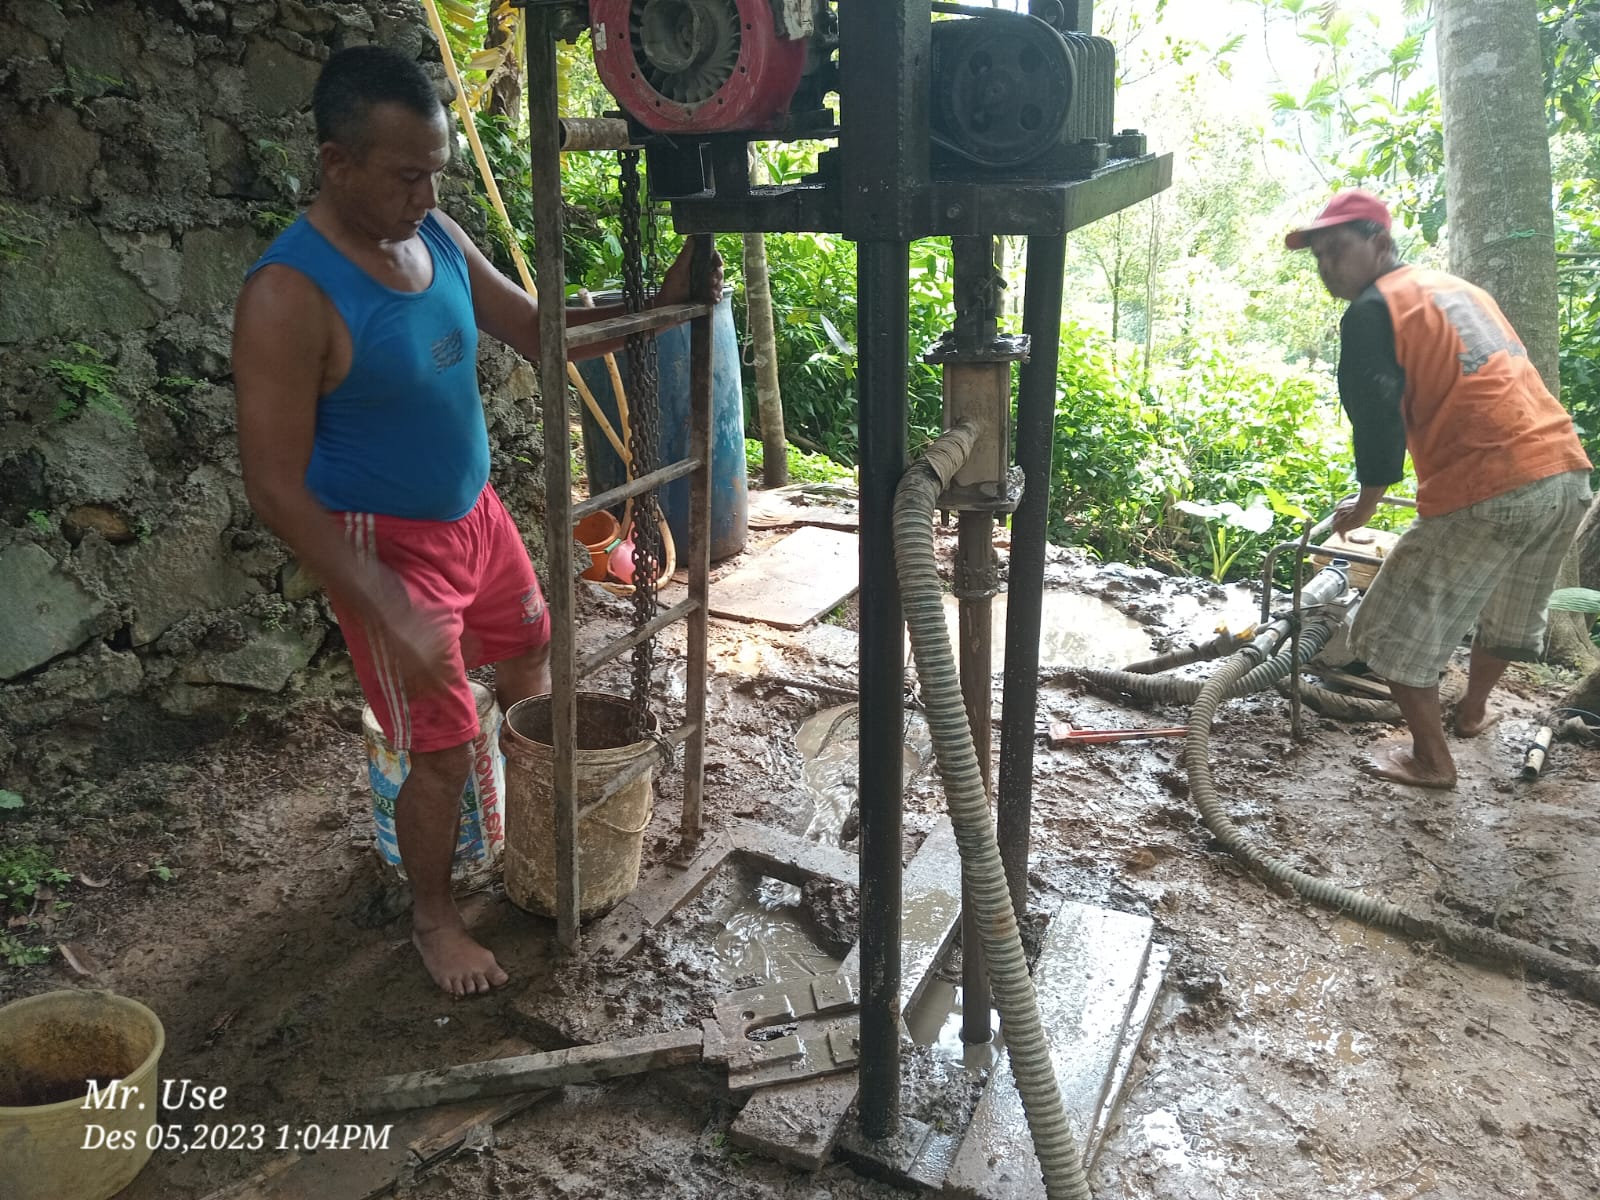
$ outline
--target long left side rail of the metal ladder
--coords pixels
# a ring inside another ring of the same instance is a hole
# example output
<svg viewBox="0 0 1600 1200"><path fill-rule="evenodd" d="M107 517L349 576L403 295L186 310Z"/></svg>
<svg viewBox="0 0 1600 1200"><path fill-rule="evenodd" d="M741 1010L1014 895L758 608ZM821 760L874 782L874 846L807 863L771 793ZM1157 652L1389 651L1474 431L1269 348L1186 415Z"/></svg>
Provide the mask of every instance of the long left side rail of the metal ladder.
<svg viewBox="0 0 1600 1200"><path fill-rule="evenodd" d="M544 427L546 602L550 606L550 789L555 802L555 936L578 949L578 693L573 651L573 480L566 453L566 262L562 251L562 130L557 101L557 11L528 8L528 142L539 294L539 406Z"/></svg>

